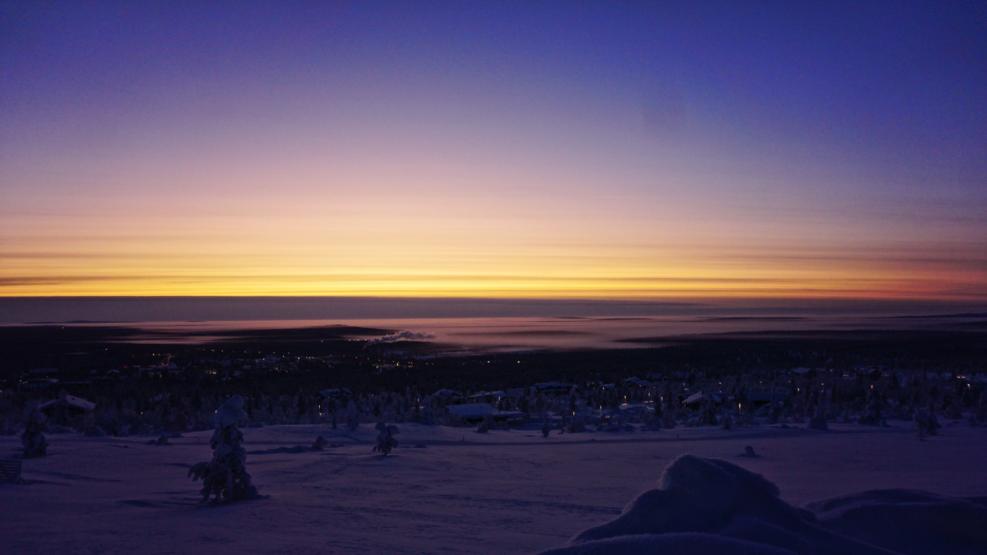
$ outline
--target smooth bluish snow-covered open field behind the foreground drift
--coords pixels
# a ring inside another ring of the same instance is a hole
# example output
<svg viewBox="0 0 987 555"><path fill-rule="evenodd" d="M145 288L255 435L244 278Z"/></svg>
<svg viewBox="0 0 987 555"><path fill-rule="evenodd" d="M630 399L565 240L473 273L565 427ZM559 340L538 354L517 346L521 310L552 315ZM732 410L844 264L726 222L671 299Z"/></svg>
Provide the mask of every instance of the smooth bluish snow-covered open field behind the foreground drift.
<svg viewBox="0 0 987 555"><path fill-rule="evenodd" d="M682 453L763 474L782 499L811 501L877 488L987 495L987 428L946 426L916 438L894 428L828 432L586 433L399 425L395 455L371 453L371 425L246 429L248 471L267 499L198 505L186 477L211 457L211 432L150 445L148 437L49 434L49 456L24 461L27 485L0 485L5 553L534 553L621 513ZM533 427L535 428L535 427ZM310 445L322 451L260 454ZM739 456L752 445L761 456ZM20 451L0 437L0 456Z"/></svg>

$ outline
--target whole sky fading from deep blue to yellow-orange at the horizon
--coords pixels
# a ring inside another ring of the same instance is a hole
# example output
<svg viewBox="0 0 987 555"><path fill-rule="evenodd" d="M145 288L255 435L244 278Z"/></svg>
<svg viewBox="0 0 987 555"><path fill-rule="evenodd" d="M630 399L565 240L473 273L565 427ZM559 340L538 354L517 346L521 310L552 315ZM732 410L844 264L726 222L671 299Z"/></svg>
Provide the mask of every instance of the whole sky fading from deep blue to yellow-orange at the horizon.
<svg viewBox="0 0 987 555"><path fill-rule="evenodd" d="M982 2L0 14L0 296L987 305Z"/></svg>

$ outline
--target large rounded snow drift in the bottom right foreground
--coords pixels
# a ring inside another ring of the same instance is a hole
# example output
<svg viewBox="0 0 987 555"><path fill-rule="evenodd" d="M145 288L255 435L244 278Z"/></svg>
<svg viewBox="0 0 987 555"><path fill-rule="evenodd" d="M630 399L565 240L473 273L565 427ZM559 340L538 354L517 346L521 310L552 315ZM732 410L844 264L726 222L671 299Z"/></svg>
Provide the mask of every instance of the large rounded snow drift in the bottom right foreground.
<svg viewBox="0 0 987 555"><path fill-rule="evenodd" d="M543 555L984 552L984 498L883 490L799 509L782 501L775 484L760 474L720 459L682 455L665 468L658 487L622 515Z"/></svg>

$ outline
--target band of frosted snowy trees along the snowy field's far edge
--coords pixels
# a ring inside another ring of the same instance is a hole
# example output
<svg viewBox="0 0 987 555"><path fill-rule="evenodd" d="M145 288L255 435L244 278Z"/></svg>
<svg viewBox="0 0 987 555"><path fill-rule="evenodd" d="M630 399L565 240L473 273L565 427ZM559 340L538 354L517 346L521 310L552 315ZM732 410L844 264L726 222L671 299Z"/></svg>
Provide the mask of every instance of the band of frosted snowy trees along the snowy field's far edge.
<svg viewBox="0 0 987 555"><path fill-rule="evenodd" d="M844 375L849 373L849 375ZM769 423L806 422L816 427L826 422L859 422L879 425L883 420L911 420L922 414L943 419L970 419L987 424L987 390L982 382L956 377L932 376L924 372L900 374L885 372L810 371L807 373L748 372L705 376L698 372L686 377L650 380L646 387L634 381L614 383L583 382L568 394L541 394L522 389L494 402L495 408L520 411L540 418L543 415L582 416L575 424L615 426L625 422L643 424L649 429L676 426L745 426L754 418ZM683 401L697 392L721 392L712 399L684 406ZM751 400L754 392L773 392L781 398L760 406ZM256 384L210 382L172 384L154 388L147 383L103 388L87 398L96 410L87 415L49 415L51 424L69 426L87 434L121 436L158 435L164 432L205 430L212 426L214 407L231 395L244 400L245 422L258 424L331 424L352 428L379 421L424 424L461 424L451 418L446 406L457 402L453 395L429 395L418 388L377 393L342 393L323 397L317 390L294 391L262 389ZM473 391L460 392L462 396ZM32 400L44 400L41 393L5 391L0 394L0 433L14 433L28 421L26 411ZM50 394L49 394L50 396ZM640 415L608 413L625 403L653 402L655 410ZM603 413L601 415L601 413ZM596 415L595 420L589 418ZM605 416L603 421L600 417ZM934 428L934 427L933 427ZM934 433L934 432L930 432Z"/></svg>

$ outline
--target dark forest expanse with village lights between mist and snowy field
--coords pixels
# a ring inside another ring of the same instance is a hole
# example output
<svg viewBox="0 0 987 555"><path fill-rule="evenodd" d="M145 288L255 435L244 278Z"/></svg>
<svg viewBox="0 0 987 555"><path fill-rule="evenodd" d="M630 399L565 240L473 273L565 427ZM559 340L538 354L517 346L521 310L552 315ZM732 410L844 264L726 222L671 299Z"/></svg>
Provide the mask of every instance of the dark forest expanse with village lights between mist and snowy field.
<svg viewBox="0 0 987 555"><path fill-rule="evenodd" d="M108 341L106 330L99 335L91 329L55 328L17 328L0 334L9 350L7 359L22 360L17 368L5 367L0 427L13 427L30 404L53 399L61 391L95 402L97 408L92 414L65 408L51 415L53 424L98 426L111 434L208 427L215 408L234 394L246 399L244 408L255 423L342 423L351 413L361 422L446 422L444 404L453 401L429 396L443 388L464 395L514 390L496 402L498 408L533 415L572 416L624 402L657 401L656 412L673 419L666 426L711 424L733 411L737 421L744 422L740 417L758 409L753 403L743 406L751 391L784 396L772 410L776 420L818 414L831 420L863 418L874 410L907 418L918 409L949 418L979 418L987 409L984 384L975 379L987 371L984 334L737 334L677 338L678 345L660 349L431 357L423 344L363 349L361 342L326 334L238 338L207 346L146 345ZM30 357L37 359L23 362ZM269 363L258 363L263 357ZM150 377L135 369L165 361L176 370ZM881 367L876 374L865 369L876 365ZM32 367L57 367L59 379L70 383L19 387L22 374ZM779 372L794 367L812 369ZM108 374L110 370L119 373ZM632 376L658 374L661 377L649 379L647 387L625 382ZM554 380L579 387L562 396L530 392L533 384ZM340 397L318 393L342 388L348 393ZM723 392L731 401L715 407L712 401L704 402L710 406L683 406L684 398L703 391Z"/></svg>

